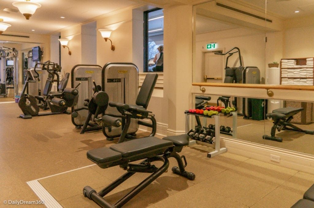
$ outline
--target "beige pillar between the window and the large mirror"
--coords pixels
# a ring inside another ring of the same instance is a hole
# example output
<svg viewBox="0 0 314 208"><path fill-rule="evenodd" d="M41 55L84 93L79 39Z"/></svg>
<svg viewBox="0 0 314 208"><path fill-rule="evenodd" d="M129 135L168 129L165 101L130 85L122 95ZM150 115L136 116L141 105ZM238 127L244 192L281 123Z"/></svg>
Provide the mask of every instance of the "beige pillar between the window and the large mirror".
<svg viewBox="0 0 314 208"><path fill-rule="evenodd" d="M183 133L192 104L192 6L164 9L164 101L168 134Z"/></svg>

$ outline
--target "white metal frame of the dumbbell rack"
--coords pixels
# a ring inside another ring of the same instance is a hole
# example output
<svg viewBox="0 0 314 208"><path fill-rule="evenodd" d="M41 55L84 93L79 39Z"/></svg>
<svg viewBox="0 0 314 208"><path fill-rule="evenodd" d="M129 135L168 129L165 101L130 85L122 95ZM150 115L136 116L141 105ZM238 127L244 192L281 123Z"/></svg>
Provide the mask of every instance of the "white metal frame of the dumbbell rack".
<svg viewBox="0 0 314 208"><path fill-rule="evenodd" d="M189 131L189 124L190 124L190 115L192 116L200 116L200 117L206 117L206 118L215 118L215 126L219 127L219 114L214 115L214 116L205 116L205 115L201 115L201 114L196 114L196 113L189 113L188 111L185 111L184 114L186 115L186 133ZM200 141L197 140L191 140L190 144L195 144L195 143L200 143ZM202 144L208 144L208 143L202 143ZM208 158L212 158L216 155L219 155L221 153L224 153L227 151L227 148L220 148L220 131L215 131L215 150L213 152L209 152L207 153L207 157Z"/></svg>

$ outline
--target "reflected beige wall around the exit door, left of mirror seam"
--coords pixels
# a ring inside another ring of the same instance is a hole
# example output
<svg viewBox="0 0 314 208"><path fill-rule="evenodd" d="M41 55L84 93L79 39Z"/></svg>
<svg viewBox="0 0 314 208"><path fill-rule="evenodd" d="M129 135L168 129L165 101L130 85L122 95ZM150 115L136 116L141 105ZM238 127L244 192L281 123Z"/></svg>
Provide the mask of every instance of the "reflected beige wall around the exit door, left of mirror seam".
<svg viewBox="0 0 314 208"><path fill-rule="evenodd" d="M261 72L261 77L265 74L265 33L254 29L236 28L224 31L211 32L206 34L199 34L196 36L196 48L195 48L195 66L196 70L193 74L193 80L195 82L202 82L203 77L201 75L203 47L206 48L206 44L215 42L219 49L223 49L225 52L238 47L241 52L242 66L256 66ZM224 60L226 60L225 55ZM229 67L240 66L239 55L234 54L228 59ZM223 64L223 74L225 68L225 61ZM195 76L195 78L194 78ZM213 75L215 76L215 75Z"/></svg>

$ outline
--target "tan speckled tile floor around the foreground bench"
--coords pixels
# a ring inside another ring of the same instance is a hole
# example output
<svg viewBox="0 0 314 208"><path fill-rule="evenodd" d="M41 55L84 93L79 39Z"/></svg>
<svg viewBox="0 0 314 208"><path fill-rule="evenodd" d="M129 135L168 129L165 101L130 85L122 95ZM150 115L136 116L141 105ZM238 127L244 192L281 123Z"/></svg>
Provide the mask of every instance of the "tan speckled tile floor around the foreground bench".
<svg viewBox="0 0 314 208"><path fill-rule="evenodd" d="M1 98L3 101L14 99ZM88 150L116 142L107 141L101 132L80 134L70 115L23 120L17 118L20 113L16 103L0 104L0 207L24 207L3 205L3 200L38 200L27 181L91 165L86 159ZM293 140L280 145L289 146L287 143L292 142L295 148L310 149ZM290 207L314 183L311 174L228 152L207 158L206 150L198 144L182 150L187 157L187 171L196 174L194 181L173 174L171 167L176 164L170 159L169 171L125 207ZM63 207L98 207L83 196L83 187L100 190L122 173L118 167L100 169L94 165L39 182ZM106 199L114 202L146 175L135 174Z"/></svg>

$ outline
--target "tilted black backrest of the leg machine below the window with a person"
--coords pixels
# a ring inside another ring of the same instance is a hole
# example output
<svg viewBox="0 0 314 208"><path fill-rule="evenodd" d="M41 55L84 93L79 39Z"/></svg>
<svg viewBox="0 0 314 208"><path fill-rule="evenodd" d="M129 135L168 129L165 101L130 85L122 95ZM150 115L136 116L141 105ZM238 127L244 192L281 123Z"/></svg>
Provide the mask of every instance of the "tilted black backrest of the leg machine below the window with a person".
<svg viewBox="0 0 314 208"><path fill-rule="evenodd" d="M152 96L158 74L148 73L143 81L141 89L138 92L136 105L147 109L150 97Z"/></svg>

